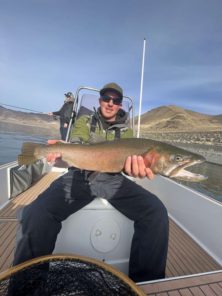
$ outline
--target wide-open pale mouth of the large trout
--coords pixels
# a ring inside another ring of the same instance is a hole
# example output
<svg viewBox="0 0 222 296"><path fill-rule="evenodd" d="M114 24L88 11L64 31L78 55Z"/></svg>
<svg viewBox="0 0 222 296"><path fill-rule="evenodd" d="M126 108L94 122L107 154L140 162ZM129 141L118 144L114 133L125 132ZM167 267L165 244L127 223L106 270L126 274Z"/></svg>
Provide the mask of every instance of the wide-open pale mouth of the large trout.
<svg viewBox="0 0 222 296"><path fill-rule="evenodd" d="M182 163L180 166L175 168L171 171L169 177L170 178L176 178L181 181L191 181L191 182L200 182L200 181L206 181L208 179L207 176L203 176L200 174L194 174L187 170L184 170L184 168L194 165L195 163L202 163L204 160L196 160L189 163Z"/></svg>

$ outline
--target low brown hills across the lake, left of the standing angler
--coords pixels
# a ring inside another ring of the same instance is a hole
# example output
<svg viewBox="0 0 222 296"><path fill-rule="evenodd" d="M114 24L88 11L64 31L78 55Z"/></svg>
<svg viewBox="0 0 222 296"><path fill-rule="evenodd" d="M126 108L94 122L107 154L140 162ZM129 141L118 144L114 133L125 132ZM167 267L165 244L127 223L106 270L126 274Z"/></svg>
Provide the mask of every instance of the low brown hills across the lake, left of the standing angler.
<svg viewBox="0 0 222 296"><path fill-rule="evenodd" d="M32 112L22 112L15 111L11 109L4 108L0 105L0 121L12 122L19 124L27 124L32 126L48 126L58 127L59 118L57 121L52 120L49 115L41 113L32 113Z"/></svg>

